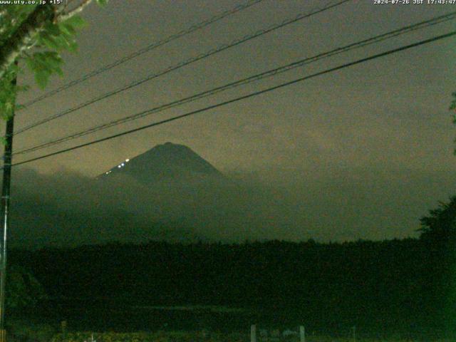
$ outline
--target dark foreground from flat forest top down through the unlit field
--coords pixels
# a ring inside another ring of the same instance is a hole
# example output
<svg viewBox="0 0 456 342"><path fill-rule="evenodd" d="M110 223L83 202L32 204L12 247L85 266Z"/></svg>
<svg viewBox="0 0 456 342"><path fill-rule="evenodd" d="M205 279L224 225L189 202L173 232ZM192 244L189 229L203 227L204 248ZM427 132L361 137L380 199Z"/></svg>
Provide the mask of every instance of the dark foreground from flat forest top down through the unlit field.
<svg viewBox="0 0 456 342"><path fill-rule="evenodd" d="M46 296L10 312L57 331L66 321L68 332L257 324L348 338L355 326L358 339L437 341L456 336L453 247L429 238L15 250L11 263L33 270Z"/></svg>

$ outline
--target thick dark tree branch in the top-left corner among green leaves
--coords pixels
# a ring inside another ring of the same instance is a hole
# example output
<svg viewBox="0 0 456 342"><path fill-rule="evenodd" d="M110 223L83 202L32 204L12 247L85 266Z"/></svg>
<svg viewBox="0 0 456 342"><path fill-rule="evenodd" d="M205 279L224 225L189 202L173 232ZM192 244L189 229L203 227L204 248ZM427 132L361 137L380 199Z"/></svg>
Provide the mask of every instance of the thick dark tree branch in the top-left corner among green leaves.
<svg viewBox="0 0 456 342"><path fill-rule="evenodd" d="M28 47L44 24L53 21L54 16L54 7L51 4L36 6L36 9L28 15L27 19L4 42L0 48L0 78L4 76L4 73L14 63L16 58Z"/></svg>

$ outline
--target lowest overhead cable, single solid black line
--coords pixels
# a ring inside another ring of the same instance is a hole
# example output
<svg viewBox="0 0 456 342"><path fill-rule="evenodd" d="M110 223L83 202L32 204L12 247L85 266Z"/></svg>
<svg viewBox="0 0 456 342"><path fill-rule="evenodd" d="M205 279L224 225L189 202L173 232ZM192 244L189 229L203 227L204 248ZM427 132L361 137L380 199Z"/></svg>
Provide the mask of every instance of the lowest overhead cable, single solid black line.
<svg viewBox="0 0 456 342"><path fill-rule="evenodd" d="M456 35L456 31L452 31L452 32L449 32L449 33L442 34L440 36L435 36L433 38L425 39L423 41L418 41L416 43L412 43L412 44L409 44L409 45L406 45L406 46L401 46L400 48L395 48L393 50L385 51L385 52L382 52L382 53L377 53L375 55L372 55L372 56L369 56L369 57L366 57L366 58L361 58L361 59L358 59L358 60L353 61L353 62L342 64L341 66L336 66L334 68L326 69L325 71L320 71L318 73L313 73L313 74L311 74L309 76L304 76L304 77L301 77L301 78L297 78L297 79L295 79L293 81L289 81L289 82L286 82L286 83L281 83L278 86L273 86L273 87L266 88L266 89L263 89L263 90L258 90L258 91L254 92L254 93L249 93L247 95L243 95L243 96L240 96L238 98L233 98L231 100L227 100L227 101L224 101L224 102L221 102L221 103L217 103L215 105L209 105L209 106L204 107L204 108L200 108L200 109L197 109L197 110L192 110L189 113L185 113L185 114L182 114L182 115L177 115L177 116L174 116L172 118L167 118L165 120L157 121L155 123L150 123L149 125L144 125L144 126L141 126L139 128L134 128L133 130L126 130L126 131L124 131L122 133L117 133L115 135L110 135L110 136L105 137L105 138L101 138L101 139L93 140L93 141L90 141L90 142L86 142L86 143L83 143L81 145L68 147L68 148L63 149L63 150L58 150L56 152L51 152L51 153L48 153L46 155L41 155L39 157L34 157L34 158L31 158L31 159L28 159L28 160L24 160L22 162L16 162L12 166L23 165L23 164L26 164L28 162L33 162L33 161L36 161L36 160L42 160L44 158L51 157L53 155L60 155L61 153L65 153L65 152L69 152L69 151L73 151L73 150L78 150L79 148L90 146L90 145L94 145L94 144L98 144L99 142L103 142L103 141L111 140L111 139L114 139L114 138L118 138L118 137L121 137L123 135L128 135L128 134L131 134L131 133L135 133L135 132L138 132L140 130L145 130L147 128L152 128L152 127L155 127L155 126L158 126L158 125L163 125L165 123L170 123L172 121L180 120L182 118L187 118L190 115L195 115L197 113L202 113L202 112L205 112L207 110L212 110L212 109L215 109L215 108L219 108L219 107L222 107L224 105L229 105L230 103L236 103L236 102L238 102L240 100L245 100L247 98L252 98L252 97L257 96L257 95L261 95L261 94L264 94L264 93L269 93L272 90L277 90L279 88L284 88L286 86L291 86L292 84L295 84L295 83L299 83L299 82L302 82L302 81L309 80L310 78L314 78L314 77L317 77L317 76L325 75L327 73L332 73L334 71L338 71L338 70L341 70L343 68L348 68L350 66L355 66L355 65L360 64L360 63L364 63L364 62L367 62L367 61L372 61L373 59L376 59L376 58L388 56L388 55L393 54L393 53L398 53L400 51L405 51L405 50L408 50L410 48L414 48L416 46L421 46L421 45L424 45L424 44L427 44L427 43L432 43L433 41L438 41L440 39L448 38L450 36L455 36L455 35Z"/></svg>

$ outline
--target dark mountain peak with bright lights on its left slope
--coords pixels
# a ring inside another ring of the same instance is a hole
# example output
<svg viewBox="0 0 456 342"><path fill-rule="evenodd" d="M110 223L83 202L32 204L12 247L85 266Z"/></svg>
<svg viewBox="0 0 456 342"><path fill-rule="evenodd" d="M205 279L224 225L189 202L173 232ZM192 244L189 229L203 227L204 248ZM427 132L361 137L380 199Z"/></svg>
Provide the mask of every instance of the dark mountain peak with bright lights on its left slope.
<svg viewBox="0 0 456 342"><path fill-rule="evenodd" d="M172 142L157 145L137 157L127 159L97 178L107 180L119 175L145 183L188 183L224 178L219 170L190 147Z"/></svg>

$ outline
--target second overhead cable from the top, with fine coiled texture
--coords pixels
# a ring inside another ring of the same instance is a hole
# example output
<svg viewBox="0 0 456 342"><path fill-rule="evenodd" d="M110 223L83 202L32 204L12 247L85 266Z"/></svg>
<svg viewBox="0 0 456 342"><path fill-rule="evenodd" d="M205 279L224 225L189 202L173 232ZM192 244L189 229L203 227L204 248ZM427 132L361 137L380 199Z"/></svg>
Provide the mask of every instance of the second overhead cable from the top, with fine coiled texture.
<svg viewBox="0 0 456 342"><path fill-rule="evenodd" d="M152 80L154 78L158 78L160 76L163 76L163 75L165 75L167 73L170 73L171 71L175 71L175 70L177 70L179 68L183 68L184 66L188 66L188 65L190 65L192 63L200 61L200 60L202 60L204 58L207 58L209 56L212 56L212 55L214 55L216 53L225 51L228 48L232 48L234 46L238 46L239 44L245 43L245 42L250 41L250 40L252 40L254 38L257 38L259 36L263 36L266 33L270 33L272 31L275 31L275 30L277 30L277 29L279 29L281 27L284 27L286 25L293 24L296 21L300 21L302 19L309 18L309 16L314 16L315 14L321 13L323 11L327 11L328 9L332 9L332 8L334 8L336 6L340 6L341 4L344 4L344 3L348 2L348 1L351 1L351 0L341 0L341 1L336 2L336 4L326 5L326 6L323 6L323 7L319 7L318 9L314 9L313 11L310 11L310 12L301 13L301 14L295 16L292 19L286 19L286 20L282 21L279 24L274 24L272 26L269 26L268 28L263 28L263 29L255 32L255 33L251 33L251 34L248 34L247 36L244 36L242 38L236 39L236 40L232 41L232 43L223 44L223 45L221 45L221 46L219 46L217 48L213 48L213 49L211 49L211 50L209 50L209 51L207 51L205 53L201 53L198 56L195 56L195 57L192 57L192 58L188 58L187 60L176 64L175 66L170 66L170 67L166 68L165 70L159 71L157 73L152 73L151 75L149 75L149 76L147 76L145 78L142 78L139 81L135 81L133 83L130 83L128 86L124 86L123 88L118 88L116 90L110 91L110 92L105 93L103 95L100 95L100 96L98 96L96 98L88 100L85 103L81 103L80 105L76 105L73 108L70 108L68 110L64 110L61 113L57 113L57 114L49 116L48 118L44 118L42 120L38 120L36 123L32 123L31 125L28 125L28 126L22 128L20 130L17 130L16 133L14 133L14 135L18 135L20 133L24 133L27 130L31 130L32 128L36 128L39 125L43 125L43 123L48 123L51 120L55 120L57 118L61 118L64 115L67 115L69 113L73 113L76 110L79 110L81 108L85 108L88 105L92 105L93 103L96 103L96 102L98 102L100 100L104 100L105 98L110 98L111 96L116 95L118 93L122 93L125 90L134 88L136 86L140 86L140 84L142 84L142 83L145 83L145 82L150 81L150 80ZM331 1L331 3L332 2L333 1Z"/></svg>

